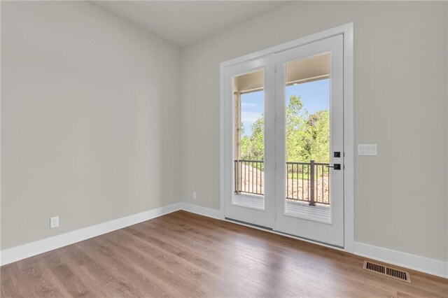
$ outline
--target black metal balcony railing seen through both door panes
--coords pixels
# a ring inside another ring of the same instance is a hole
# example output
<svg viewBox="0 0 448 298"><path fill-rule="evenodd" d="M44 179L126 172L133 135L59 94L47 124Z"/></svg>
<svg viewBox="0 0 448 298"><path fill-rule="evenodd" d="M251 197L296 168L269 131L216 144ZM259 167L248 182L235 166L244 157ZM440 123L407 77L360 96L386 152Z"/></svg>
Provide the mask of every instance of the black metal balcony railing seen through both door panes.
<svg viewBox="0 0 448 298"><path fill-rule="evenodd" d="M309 205L330 204L329 164L286 162L286 199L307 201ZM263 195L265 166L260 160L235 160L235 193Z"/></svg>

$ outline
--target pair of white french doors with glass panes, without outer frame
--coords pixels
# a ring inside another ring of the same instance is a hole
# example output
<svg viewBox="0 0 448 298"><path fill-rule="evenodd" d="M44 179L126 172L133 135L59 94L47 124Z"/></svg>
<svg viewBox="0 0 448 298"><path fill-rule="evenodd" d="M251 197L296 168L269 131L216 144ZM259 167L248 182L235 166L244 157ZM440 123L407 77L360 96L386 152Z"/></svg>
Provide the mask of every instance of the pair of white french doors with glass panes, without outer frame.
<svg viewBox="0 0 448 298"><path fill-rule="evenodd" d="M344 247L342 34L223 69L225 217Z"/></svg>

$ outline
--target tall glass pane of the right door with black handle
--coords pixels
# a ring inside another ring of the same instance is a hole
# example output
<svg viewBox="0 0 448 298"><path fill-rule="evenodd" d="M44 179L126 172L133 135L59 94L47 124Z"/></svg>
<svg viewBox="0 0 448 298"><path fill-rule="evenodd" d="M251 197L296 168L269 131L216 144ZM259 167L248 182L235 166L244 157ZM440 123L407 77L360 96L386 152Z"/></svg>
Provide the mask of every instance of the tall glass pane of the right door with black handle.
<svg viewBox="0 0 448 298"><path fill-rule="evenodd" d="M286 64L286 213L330 221L330 54Z"/></svg>

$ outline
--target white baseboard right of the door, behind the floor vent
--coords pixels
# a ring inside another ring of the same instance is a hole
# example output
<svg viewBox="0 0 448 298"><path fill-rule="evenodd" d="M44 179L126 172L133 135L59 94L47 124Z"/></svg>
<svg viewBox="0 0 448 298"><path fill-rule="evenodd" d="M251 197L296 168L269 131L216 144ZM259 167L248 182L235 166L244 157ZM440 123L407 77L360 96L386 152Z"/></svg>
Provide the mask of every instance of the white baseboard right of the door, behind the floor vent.
<svg viewBox="0 0 448 298"><path fill-rule="evenodd" d="M448 278L448 262L355 242L355 255Z"/></svg>

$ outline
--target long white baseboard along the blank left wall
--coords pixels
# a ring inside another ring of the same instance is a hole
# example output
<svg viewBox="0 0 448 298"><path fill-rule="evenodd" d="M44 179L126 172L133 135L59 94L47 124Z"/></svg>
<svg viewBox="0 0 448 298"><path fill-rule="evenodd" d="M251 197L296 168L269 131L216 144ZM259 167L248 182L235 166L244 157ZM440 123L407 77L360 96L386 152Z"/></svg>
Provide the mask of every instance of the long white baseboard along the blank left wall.
<svg viewBox="0 0 448 298"><path fill-rule="evenodd" d="M172 204L160 208L155 208L149 211L126 216L124 218L118 218L109 222L103 222L98 225L85 227L83 229L77 229L73 232L52 236L49 238L41 239L38 241L23 244L21 246L15 246L12 248L6 248L1 250L0 264L1 266L9 264L18 260L32 257L40 253L45 253L56 248L62 248L85 239L90 239L95 236L106 234L117 229L123 229L123 227L129 227L139 222L151 220L152 218L158 218L159 216L178 211L181 208L181 203Z"/></svg>

